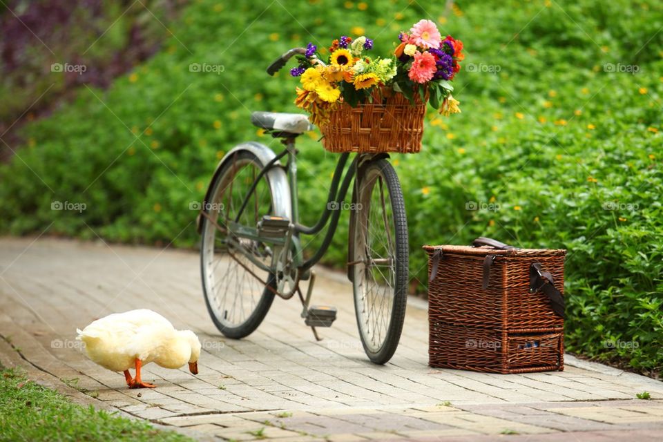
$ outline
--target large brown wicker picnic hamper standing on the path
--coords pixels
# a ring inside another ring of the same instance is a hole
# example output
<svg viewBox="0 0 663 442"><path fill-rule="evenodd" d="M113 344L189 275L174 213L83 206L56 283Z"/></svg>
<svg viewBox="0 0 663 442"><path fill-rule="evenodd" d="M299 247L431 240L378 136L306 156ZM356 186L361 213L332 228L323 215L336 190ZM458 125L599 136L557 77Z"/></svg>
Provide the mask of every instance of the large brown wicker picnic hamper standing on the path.
<svg viewBox="0 0 663 442"><path fill-rule="evenodd" d="M564 369L565 250L425 246L431 367Z"/></svg>

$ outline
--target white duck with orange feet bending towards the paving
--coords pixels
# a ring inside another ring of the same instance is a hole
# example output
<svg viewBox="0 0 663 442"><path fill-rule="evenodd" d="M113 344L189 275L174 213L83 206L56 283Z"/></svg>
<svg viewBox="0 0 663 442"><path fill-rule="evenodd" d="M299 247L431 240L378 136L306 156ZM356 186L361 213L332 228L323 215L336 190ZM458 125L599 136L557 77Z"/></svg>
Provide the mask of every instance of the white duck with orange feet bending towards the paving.
<svg viewBox="0 0 663 442"><path fill-rule="evenodd" d="M88 357L113 372L124 372L129 388L154 388L140 378L140 367L155 362L164 368L180 368L198 374L200 340L191 330L175 330L163 316L147 309L116 313L97 319L77 339L85 343ZM129 368L135 367L131 378Z"/></svg>

